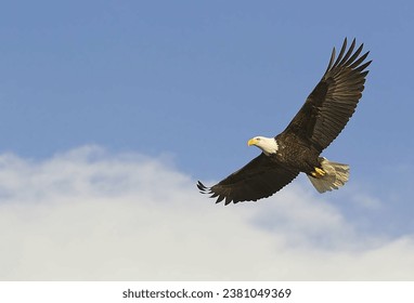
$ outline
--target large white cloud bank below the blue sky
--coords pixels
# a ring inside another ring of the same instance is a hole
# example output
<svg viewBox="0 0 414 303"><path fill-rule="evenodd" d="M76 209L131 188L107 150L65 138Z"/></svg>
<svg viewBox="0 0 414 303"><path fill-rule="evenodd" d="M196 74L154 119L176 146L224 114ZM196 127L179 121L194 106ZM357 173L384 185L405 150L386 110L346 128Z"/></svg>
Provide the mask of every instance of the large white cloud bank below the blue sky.
<svg viewBox="0 0 414 303"><path fill-rule="evenodd" d="M0 156L0 238L2 280L414 278L412 235L360 236L300 182L216 206L168 161L99 147Z"/></svg>

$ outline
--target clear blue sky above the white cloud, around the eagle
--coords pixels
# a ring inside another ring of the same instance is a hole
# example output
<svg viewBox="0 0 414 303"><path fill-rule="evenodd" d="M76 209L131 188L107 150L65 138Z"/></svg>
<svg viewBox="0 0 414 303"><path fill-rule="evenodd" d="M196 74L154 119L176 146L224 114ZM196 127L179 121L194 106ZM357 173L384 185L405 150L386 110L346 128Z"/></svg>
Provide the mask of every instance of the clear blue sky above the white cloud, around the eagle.
<svg viewBox="0 0 414 303"><path fill-rule="evenodd" d="M37 167L94 145L163 159L196 193L258 155L247 140L281 132L355 37L374 62L324 153L351 180L296 182L361 234L412 237L413 28L411 1L2 1L0 154Z"/></svg>

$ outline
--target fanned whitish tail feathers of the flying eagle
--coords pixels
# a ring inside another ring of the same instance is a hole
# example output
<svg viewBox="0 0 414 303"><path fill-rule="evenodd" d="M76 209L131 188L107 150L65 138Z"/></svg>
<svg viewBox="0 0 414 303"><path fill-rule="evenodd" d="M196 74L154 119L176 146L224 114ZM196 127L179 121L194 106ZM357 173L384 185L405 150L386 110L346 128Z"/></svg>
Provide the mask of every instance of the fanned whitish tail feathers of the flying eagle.
<svg viewBox="0 0 414 303"><path fill-rule="evenodd" d="M325 175L320 177L308 175L310 182L312 182L319 193L322 194L326 190L338 189L348 181L349 166L321 158L321 167L325 171Z"/></svg>

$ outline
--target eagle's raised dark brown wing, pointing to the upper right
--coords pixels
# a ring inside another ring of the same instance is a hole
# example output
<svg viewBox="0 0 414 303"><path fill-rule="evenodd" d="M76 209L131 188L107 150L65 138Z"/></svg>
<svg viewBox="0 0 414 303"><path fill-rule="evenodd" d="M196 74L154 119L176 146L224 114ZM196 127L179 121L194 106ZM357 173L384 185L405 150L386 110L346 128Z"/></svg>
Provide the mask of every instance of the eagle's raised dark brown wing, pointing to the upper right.
<svg viewBox="0 0 414 303"><path fill-rule="evenodd" d="M355 39L346 52L345 39L336 61L334 48L325 75L284 132L308 140L320 152L338 136L362 96L364 69L371 64L364 63L370 52L360 56L363 44L353 52L354 47Z"/></svg>

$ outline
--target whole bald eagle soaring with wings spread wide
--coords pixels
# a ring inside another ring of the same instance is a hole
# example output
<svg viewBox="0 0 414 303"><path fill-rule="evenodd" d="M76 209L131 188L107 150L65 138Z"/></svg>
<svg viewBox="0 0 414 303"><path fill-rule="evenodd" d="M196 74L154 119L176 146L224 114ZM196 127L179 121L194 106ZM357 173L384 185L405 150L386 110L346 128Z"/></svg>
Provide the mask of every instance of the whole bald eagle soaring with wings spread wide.
<svg viewBox="0 0 414 303"><path fill-rule="evenodd" d="M364 61L370 52L360 56L363 44L354 49L355 39L348 50L344 40L338 57L334 48L321 81L287 128L274 137L250 139L248 145L262 153L211 187L198 181L200 193L210 194L217 203L257 201L282 189L300 172L319 193L342 186L349 177L349 166L320 155L345 128L364 90L365 68L371 64Z"/></svg>

